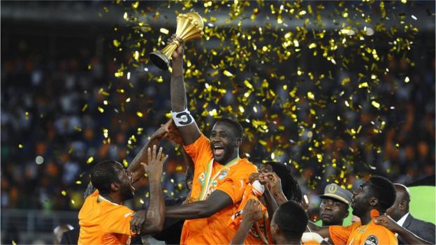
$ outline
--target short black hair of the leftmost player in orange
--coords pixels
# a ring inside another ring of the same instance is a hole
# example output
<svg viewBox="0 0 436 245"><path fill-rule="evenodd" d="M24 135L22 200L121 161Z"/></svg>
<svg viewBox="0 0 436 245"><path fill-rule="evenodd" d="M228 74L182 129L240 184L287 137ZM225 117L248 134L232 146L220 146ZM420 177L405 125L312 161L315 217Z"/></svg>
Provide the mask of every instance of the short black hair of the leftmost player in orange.
<svg viewBox="0 0 436 245"><path fill-rule="evenodd" d="M108 160L103 161L92 168L91 183L99 190L99 193L109 194L112 191L110 184L112 184L112 182L119 183L116 170L117 165L119 165L117 161Z"/></svg>

